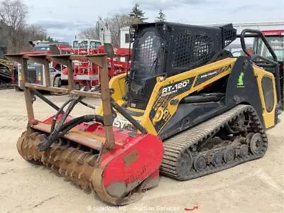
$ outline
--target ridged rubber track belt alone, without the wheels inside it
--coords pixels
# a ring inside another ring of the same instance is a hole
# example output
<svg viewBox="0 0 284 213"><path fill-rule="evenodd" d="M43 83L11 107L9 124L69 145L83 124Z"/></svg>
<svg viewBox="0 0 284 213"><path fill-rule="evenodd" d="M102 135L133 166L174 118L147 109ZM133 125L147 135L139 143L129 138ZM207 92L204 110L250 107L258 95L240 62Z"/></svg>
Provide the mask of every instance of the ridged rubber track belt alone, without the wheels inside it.
<svg viewBox="0 0 284 213"><path fill-rule="evenodd" d="M224 124L228 124L230 121L236 119L236 117L243 112L249 112L249 114L251 114L251 120L253 120L254 123L251 125L253 128L252 132L261 133L263 138L263 147L261 148L261 152L258 155L253 155L251 152L249 152L249 155L247 155L246 158L237 156L231 163L224 163L224 160L222 160L222 165L220 166L214 166L212 163L210 163L207 165L207 168L204 168L200 171L196 171L192 166L190 175L187 176L187 178L180 177L177 173L177 165L181 154L184 151L192 148L192 146L195 144L204 141L206 138L214 136L215 133L224 127ZM172 138L164 141L163 145L165 148L165 153L160 166L160 173L177 180L190 180L234 167L235 165L239 165L249 160L261 158L266 153L268 138L253 107L248 105L238 105L237 107L226 111L224 114L220 114L213 119L204 121L202 124L194 126L192 129L179 133L177 136L173 136Z"/></svg>

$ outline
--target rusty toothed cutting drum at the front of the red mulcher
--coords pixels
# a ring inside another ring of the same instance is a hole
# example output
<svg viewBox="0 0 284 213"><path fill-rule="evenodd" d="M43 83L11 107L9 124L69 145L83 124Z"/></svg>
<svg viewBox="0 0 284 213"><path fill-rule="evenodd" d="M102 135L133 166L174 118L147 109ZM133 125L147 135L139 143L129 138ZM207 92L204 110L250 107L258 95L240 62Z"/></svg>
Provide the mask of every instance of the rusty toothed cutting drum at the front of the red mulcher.
<svg viewBox="0 0 284 213"><path fill-rule="evenodd" d="M38 143L46 137L45 134L32 132L30 136L23 133L22 140L18 140L17 148L23 158L40 160L50 170L72 180L76 185L95 191L92 184L92 174L98 154L90 151L82 151L81 146L70 146L70 141L59 139L55 141L47 151L40 152ZM73 145L73 143L72 143Z"/></svg>

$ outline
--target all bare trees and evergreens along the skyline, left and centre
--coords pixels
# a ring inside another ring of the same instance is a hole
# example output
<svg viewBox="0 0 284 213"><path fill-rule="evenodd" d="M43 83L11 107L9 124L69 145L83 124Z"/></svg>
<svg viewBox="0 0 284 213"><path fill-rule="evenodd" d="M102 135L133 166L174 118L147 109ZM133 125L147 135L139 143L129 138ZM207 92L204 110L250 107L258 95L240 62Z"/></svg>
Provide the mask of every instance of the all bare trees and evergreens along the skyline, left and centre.
<svg viewBox="0 0 284 213"><path fill-rule="evenodd" d="M47 35L42 26L27 23L28 6L21 0L4 0L0 3L0 46L5 45L9 53L31 50L29 40L55 41ZM146 22L145 12L135 4L129 13L117 13L104 18L109 24L111 40L114 46L120 45L120 29L136 23ZM155 21L165 21L165 13L158 12ZM82 39L99 39L97 27L93 26L80 32Z"/></svg>

